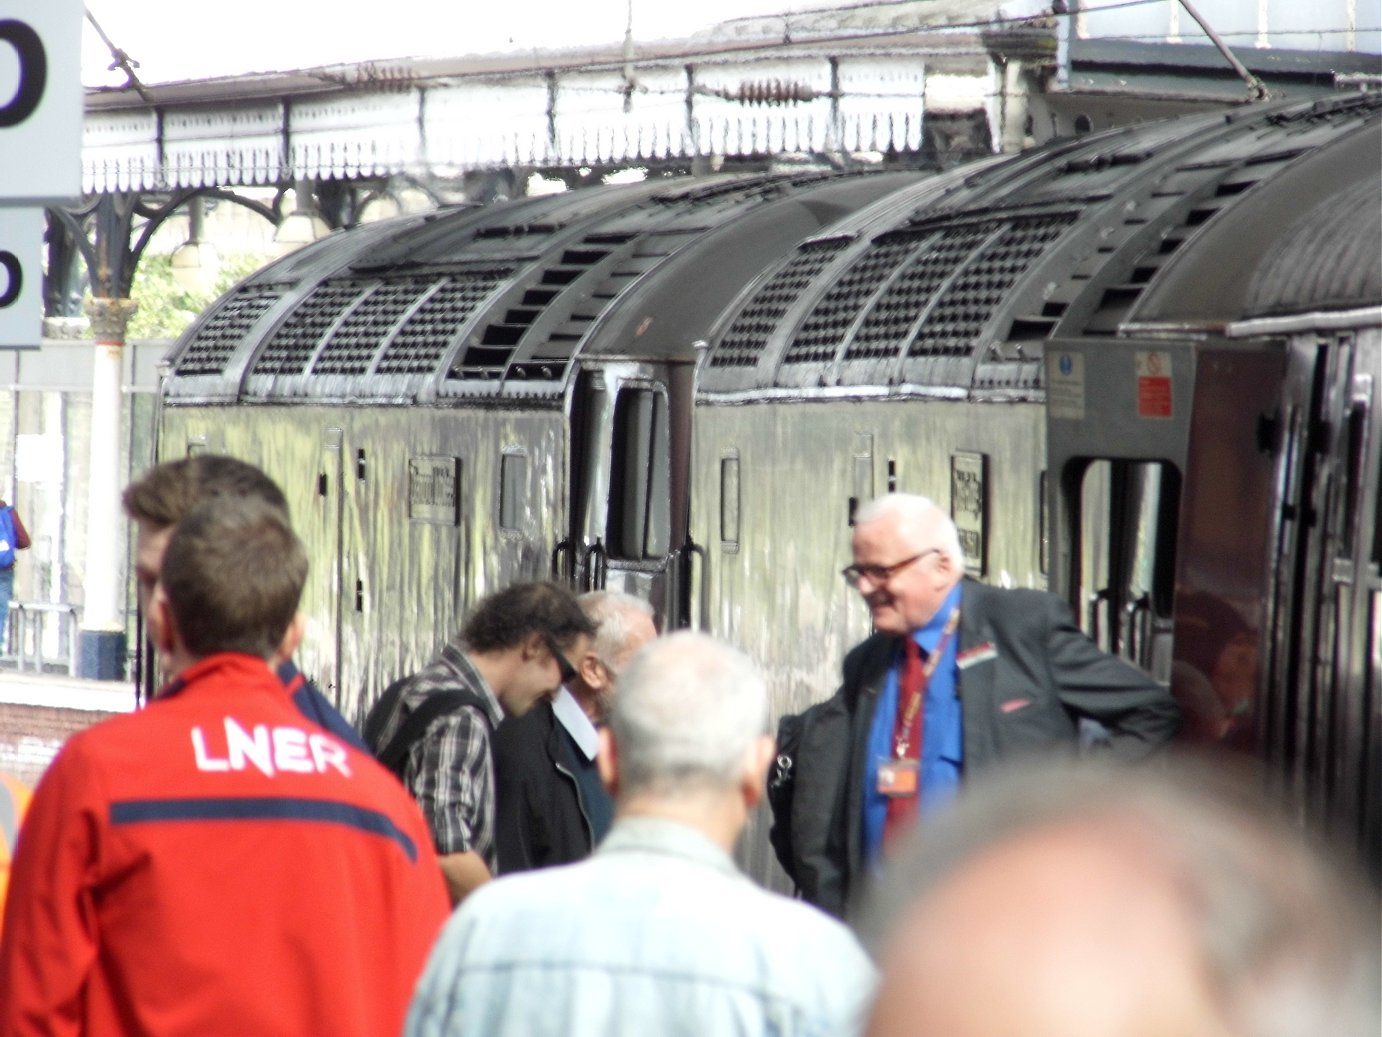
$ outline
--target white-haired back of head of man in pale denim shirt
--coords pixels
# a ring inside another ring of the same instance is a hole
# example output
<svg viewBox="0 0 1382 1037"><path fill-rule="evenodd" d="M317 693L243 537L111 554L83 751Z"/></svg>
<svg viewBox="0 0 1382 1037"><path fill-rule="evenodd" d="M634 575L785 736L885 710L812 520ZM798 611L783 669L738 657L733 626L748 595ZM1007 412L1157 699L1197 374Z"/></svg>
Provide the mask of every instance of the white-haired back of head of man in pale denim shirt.
<svg viewBox="0 0 1382 1037"><path fill-rule="evenodd" d="M641 647L609 716L621 795L732 787L768 730L767 686L738 648L683 630Z"/></svg>

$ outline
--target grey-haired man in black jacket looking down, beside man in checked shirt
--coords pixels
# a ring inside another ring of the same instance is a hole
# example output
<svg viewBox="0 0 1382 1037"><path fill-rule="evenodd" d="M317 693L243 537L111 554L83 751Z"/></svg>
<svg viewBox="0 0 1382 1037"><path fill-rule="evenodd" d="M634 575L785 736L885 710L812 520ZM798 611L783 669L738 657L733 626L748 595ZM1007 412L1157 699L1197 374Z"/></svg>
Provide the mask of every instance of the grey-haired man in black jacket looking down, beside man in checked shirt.
<svg viewBox="0 0 1382 1037"><path fill-rule="evenodd" d="M495 731L500 874L589 857L614 821L596 767L596 725L609 715L621 671L658 628L652 606L633 595L591 590L576 601L596 628L589 648L572 660L576 676Z"/></svg>

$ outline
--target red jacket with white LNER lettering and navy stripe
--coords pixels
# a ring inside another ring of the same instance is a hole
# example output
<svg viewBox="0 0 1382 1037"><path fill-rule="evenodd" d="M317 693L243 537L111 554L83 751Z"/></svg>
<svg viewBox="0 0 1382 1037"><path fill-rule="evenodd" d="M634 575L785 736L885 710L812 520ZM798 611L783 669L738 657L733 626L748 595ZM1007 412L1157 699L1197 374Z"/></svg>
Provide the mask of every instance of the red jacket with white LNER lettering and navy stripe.
<svg viewBox="0 0 1382 1037"><path fill-rule="evenodd" d="M263 660L213 655L39 784L0 1034L399 1033L448 911L402 785Z"/></svg>

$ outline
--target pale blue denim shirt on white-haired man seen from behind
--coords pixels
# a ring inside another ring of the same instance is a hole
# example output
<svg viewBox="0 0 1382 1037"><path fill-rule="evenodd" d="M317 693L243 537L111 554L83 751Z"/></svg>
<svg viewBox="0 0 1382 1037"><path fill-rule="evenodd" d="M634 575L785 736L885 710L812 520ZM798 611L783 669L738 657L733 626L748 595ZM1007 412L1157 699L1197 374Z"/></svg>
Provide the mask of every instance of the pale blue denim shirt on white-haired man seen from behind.
<svg viewBox="0 0 1382 1037"><path fill-rule="evenodd" d="M589 860L466 897L405 1034L840 1037L873 984L837 921L755 885L695 828L626 817Z"/></svg>

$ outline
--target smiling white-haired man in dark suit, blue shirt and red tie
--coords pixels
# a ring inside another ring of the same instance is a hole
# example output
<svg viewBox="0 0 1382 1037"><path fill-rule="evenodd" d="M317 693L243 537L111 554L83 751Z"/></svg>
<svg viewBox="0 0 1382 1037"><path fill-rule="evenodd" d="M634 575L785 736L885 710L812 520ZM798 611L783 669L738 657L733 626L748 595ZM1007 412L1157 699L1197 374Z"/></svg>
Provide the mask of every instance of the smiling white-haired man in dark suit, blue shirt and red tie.
<svg viewBox="0 0 1382 1037"><path fill-rule="evenodd" d="M853 546L844 578L875 633L833 698L784 722L793 794L775 802L771 838L811 903L843 915L884 846L962 778L1071 748L1081 719L1128 760L1176 733L1171 693L1100 651L1059 597L963 581L955 523L926 498L862 507Z"/></svg>

